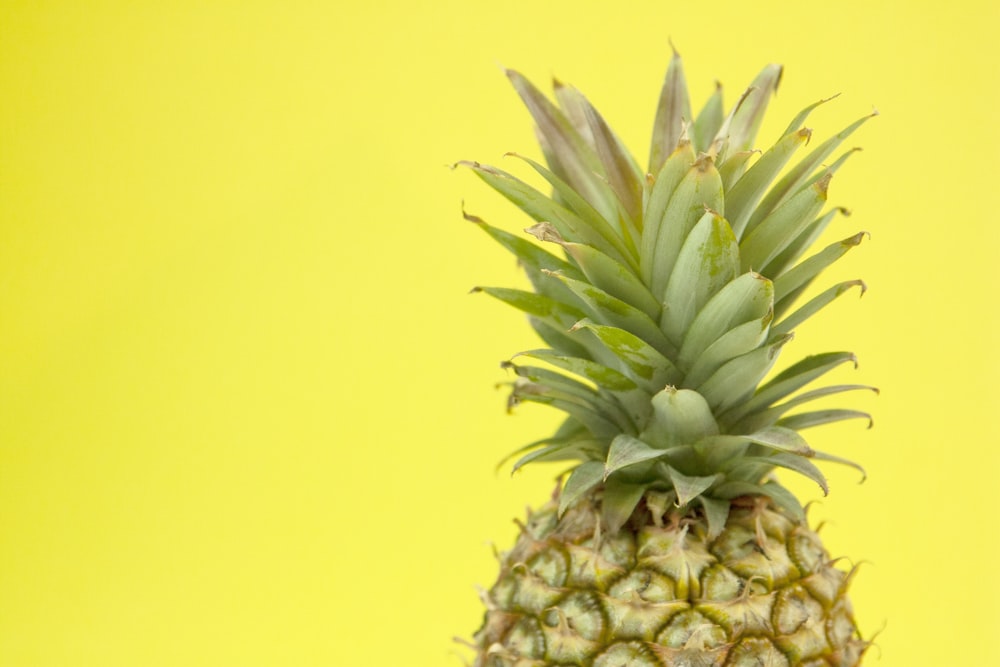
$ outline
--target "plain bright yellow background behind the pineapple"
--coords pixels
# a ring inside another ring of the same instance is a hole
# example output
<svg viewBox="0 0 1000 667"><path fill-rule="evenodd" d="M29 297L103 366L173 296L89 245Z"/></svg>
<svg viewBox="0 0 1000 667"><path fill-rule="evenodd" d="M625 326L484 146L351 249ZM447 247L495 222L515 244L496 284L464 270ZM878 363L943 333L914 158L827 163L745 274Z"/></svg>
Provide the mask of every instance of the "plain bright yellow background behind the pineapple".
<svg viewBox="0 0 1000 667"><path fill-rule="evenodd" d="M519 278L462 199L524 220L445 165L537 153L498 64L644 157L668 37L697 105L786 65L763 140L881 111L831 188L870 290L785 351L882 388L810 434L870 473L812 518L866 664L1000 664L997 3L337 5L0 4L0 665L461 665L556 415L504 414L536 343L467 294Z"/></svg>

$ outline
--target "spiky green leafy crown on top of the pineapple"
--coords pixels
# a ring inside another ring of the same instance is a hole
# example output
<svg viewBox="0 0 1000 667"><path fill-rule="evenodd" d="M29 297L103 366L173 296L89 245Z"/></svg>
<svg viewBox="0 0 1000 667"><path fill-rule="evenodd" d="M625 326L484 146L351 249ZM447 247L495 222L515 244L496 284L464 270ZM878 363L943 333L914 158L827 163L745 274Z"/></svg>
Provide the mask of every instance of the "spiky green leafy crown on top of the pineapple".
<svg viewBox="0 0 1000 667"><path fill-rule="evenodd" d="M681 60L674 54L660 94L649 164L643 170L593 106L555 83L556 104L507 72L528 107L548 166L519 157L552 188L546 195L495 167L471 168L536 221L536 242L466 215L520 260L534 291L481 287L526 312L547 348L506 365L517 375L511 402L564 411L551 437L519 453L532 461L576 460L561 510L603 485L611 530L647 494L680 507L700 505L721 529L729 500L765 495L802 515L771 477L786 468L827 490L799 431L862 417L808 409L814 399L864 385L802 391L853 362L847 352L806 357L761 384L796 326L860 280L796 302L863 234L808 258L842 209L824 212L833 174L853 152L827 162L870 116L820 143L803 127L822 100L803 109L773 146L754 150L781 68L768 65L727 113L717 89L692 116ZM692 120L693 119L693 120ZM797 307L795 307L797 305ZM544 365L540 366L537 363Z"/></svg>

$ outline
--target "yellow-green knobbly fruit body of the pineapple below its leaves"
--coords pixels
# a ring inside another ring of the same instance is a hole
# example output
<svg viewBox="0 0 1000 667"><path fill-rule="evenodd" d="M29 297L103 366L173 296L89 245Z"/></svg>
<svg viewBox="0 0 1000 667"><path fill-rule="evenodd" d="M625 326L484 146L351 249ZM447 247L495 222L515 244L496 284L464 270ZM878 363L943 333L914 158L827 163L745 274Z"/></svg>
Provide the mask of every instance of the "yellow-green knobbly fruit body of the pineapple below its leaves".
<svg viewBox="0 0 1000 667"><path fill-rule="evenodd" d="M853 667L861 639L819 536L764 497L715 539L640 505L602 535L601 491L531 512L485 593L474 667Z"/></svg>

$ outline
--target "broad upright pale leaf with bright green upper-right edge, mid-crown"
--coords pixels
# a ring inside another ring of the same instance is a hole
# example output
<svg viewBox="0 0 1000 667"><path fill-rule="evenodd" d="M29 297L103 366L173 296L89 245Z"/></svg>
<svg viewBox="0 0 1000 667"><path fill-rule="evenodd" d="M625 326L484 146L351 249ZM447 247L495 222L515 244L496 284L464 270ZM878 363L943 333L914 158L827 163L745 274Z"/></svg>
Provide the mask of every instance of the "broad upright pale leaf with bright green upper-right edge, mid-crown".
<svg viewBox="0 0 1000 667"><path fill-rule="evenodd" d="M706 211L688 234L664 290L660 326L680 346L695 316L739 273L740 252L726 220Z"/></svg>

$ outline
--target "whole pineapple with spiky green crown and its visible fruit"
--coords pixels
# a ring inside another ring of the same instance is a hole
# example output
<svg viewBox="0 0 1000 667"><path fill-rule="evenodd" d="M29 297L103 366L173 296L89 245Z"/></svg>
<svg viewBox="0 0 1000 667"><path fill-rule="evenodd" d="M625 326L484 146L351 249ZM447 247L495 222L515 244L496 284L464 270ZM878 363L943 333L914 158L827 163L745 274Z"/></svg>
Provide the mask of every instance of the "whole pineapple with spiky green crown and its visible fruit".
<svg viewBox="0 0 1000 667"><path fill-rule="evenodd" d="M527 213L533 240L465 214L517 256L532 291L480 287L524 311L544 341L504 365L510 404L565 413L514 469L569 461L484 592L476 667L859 664L868 647L847 588L796 497L774 477L827 483L800 431L862 418L813 408L856 384L808 388L847 352L770 375L794 329L854 280L798 304L850 236L809 254L843 209L825 209L828 158L867 118L792 160L804 108L773 146L755 137L782 69L769 65L726 113L717 89L697 116L674 54L641 168L593 106L555 83L553 103L517 72L548 183L470 168ZM787 165L791 161L793 166ZM863 475L863 471L862 475Z"/></svg>

